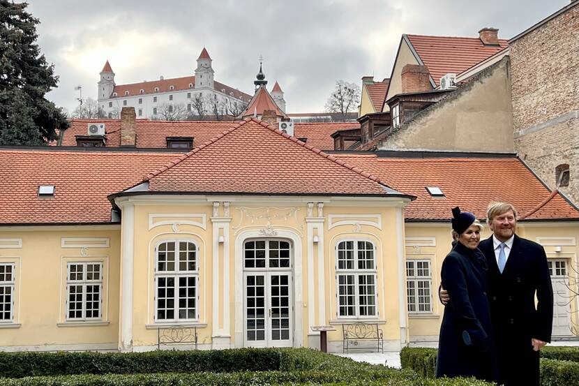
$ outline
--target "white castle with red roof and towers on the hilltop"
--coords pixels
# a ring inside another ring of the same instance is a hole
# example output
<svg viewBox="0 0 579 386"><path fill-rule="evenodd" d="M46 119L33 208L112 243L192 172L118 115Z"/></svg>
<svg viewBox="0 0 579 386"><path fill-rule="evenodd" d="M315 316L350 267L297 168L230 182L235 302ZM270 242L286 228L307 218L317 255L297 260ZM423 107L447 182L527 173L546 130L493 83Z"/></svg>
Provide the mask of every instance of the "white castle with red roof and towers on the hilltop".
<svg viewBox="0 0 579 386"><path fill-rule="evenodd" d="M135 107L139 118L173 120L188 116L232 115L237 117L251 96L214 79L213 59L203 48L195 75L173 79L116 84L109 62L100 72L98 105L106 117L118 118L123 107ZM283 96L282 96L283 98Z"/></svg>

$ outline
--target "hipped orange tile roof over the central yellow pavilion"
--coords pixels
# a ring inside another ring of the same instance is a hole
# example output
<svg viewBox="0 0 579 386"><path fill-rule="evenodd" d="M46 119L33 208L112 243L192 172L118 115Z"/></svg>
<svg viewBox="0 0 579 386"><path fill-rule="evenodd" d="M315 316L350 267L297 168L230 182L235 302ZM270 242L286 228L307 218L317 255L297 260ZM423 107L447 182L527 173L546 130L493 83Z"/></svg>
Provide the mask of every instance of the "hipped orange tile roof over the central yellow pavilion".
<svg viewBox="0 0 579 386"><path fill-rule="evenodd" d="M144 181L152 192L401 194L257 119L246 119Z"/></svg>

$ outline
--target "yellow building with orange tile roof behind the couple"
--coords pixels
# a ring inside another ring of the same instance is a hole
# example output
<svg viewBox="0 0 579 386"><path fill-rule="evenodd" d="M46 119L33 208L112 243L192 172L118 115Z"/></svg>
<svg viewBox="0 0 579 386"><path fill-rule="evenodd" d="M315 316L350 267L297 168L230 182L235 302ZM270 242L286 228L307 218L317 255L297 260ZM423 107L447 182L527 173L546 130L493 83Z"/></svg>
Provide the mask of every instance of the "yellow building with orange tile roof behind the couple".
<svg viewBox="0 0 579 386"><path fill-rule="evenodd" d="M331 325L340 351L352 322L385 350L432 340L450 208L491 199L554 281L577 261L579 211L512 156L332 155L247 119L187 154L0 149L0 168L2 350L153 350L172 326L199 348L317 348Z"/></svg>

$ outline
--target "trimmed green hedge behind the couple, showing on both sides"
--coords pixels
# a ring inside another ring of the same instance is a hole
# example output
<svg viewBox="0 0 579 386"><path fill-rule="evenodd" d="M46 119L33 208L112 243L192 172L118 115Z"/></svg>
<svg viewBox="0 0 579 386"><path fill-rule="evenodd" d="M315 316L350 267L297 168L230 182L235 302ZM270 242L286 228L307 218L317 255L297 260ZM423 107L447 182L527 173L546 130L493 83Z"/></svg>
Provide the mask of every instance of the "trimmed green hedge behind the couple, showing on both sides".
<svg viewBox="0 0 579 386"><path fill-rule="evenodd" d="M436 370L436 348L409 348L400 351L403 369L432 378ZM571 359L571 360L565 360ZM541 386L579 385L579 348L550 347L541 349Z"/></svg>

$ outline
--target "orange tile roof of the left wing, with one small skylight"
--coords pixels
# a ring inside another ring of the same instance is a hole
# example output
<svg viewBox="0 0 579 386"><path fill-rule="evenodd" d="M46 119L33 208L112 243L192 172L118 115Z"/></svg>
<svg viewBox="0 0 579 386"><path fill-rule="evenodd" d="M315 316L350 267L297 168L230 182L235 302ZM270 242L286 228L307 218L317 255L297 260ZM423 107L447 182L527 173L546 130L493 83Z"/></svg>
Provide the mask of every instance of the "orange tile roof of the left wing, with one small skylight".
<svg viewBox="0 0 579 386"><path fill-rule="evenodd" d="M0 149L0 223L110 223L107 195L133 186L171 153ZM38 185L54 198L38 198Z"/></svg>

